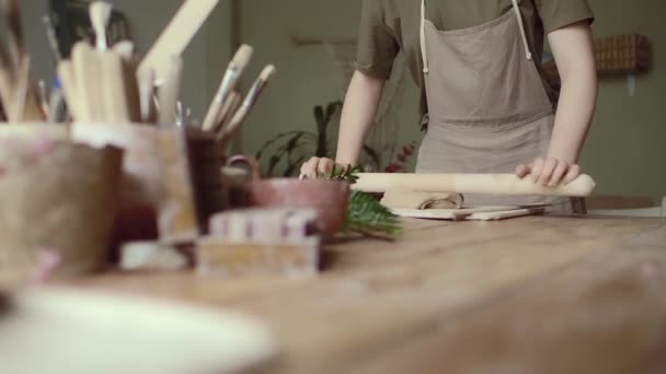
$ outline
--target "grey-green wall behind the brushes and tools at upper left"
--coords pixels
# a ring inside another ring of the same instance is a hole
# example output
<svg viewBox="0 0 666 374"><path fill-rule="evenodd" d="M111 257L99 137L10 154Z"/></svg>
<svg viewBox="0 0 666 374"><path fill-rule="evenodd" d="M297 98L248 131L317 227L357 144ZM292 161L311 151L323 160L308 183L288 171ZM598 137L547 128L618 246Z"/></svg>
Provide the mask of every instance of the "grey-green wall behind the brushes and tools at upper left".
<svg viewBox="0 0 666 374"><path fill-rule="evenodd" d="M169 23L182 0L113 0L115 8L123 11L130 25L133 38L140 52L145 54ZM54 61L49 55L42 17L47 13L46 0L21 1L26 40L33 55L37 79L50 81ZM183 83L183 102L193 114L203 117L208 106L216 82L210 80L215 71L229 58L229 2L221 1L206 24L186 50Z"/></svg>

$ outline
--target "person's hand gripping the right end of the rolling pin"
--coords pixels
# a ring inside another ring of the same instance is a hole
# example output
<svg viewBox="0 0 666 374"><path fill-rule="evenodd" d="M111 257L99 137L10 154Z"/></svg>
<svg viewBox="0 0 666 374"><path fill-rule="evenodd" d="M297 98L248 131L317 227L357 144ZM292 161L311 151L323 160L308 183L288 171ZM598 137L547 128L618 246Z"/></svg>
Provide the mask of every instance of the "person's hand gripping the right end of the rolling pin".
<svg viewBox="0 0 666 374"><path fill-rule="evenodd" d="M539 157L530 164L516 166L516 175L530 177L532 183L556 187L567 185L581 175L581 166L558 159Z"/></svg>

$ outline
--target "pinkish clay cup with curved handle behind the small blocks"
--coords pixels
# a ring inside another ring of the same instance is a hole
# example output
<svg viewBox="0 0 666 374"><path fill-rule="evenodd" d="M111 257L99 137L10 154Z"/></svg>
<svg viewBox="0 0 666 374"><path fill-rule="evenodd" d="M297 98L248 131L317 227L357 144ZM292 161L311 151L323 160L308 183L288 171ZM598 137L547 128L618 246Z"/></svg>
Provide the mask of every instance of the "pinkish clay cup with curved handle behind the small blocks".
<svg viewBox="0 0 666 374"><path fill-rule="evenodd" d="M349 185L338 180L261 177L259 163L252 157L233 156L229 166L244 165L251 182L244 184L242 207L308 208L317 212L317 225L324 238L342 229L349 204Z"/></svg>

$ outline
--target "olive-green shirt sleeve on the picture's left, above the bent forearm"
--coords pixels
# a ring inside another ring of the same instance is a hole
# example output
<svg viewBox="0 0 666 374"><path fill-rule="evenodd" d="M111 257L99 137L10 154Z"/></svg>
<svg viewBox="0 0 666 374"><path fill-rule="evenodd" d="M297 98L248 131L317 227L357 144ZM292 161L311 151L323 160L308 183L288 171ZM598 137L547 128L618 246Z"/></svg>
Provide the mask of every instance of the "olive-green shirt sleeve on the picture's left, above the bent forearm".
<svg viewBox="0 0 666 374"><path fill-rule="evenodd" d="M370 77L389 79L400 47L384 14L382 1L363 0L355 68Z"/></svg>

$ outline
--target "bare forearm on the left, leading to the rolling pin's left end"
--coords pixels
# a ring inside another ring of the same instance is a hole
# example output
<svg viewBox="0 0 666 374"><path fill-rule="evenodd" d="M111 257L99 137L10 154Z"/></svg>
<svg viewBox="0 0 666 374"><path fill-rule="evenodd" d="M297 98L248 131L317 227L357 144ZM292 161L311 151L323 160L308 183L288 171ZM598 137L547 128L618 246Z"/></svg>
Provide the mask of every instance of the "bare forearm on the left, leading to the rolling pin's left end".
<svg viewBox="0 0 666 374"><path fill-rule="evenodd" d="M340 121L336 163L356 164L375 122L383 80L355 72L349 83Z"/></svg>

